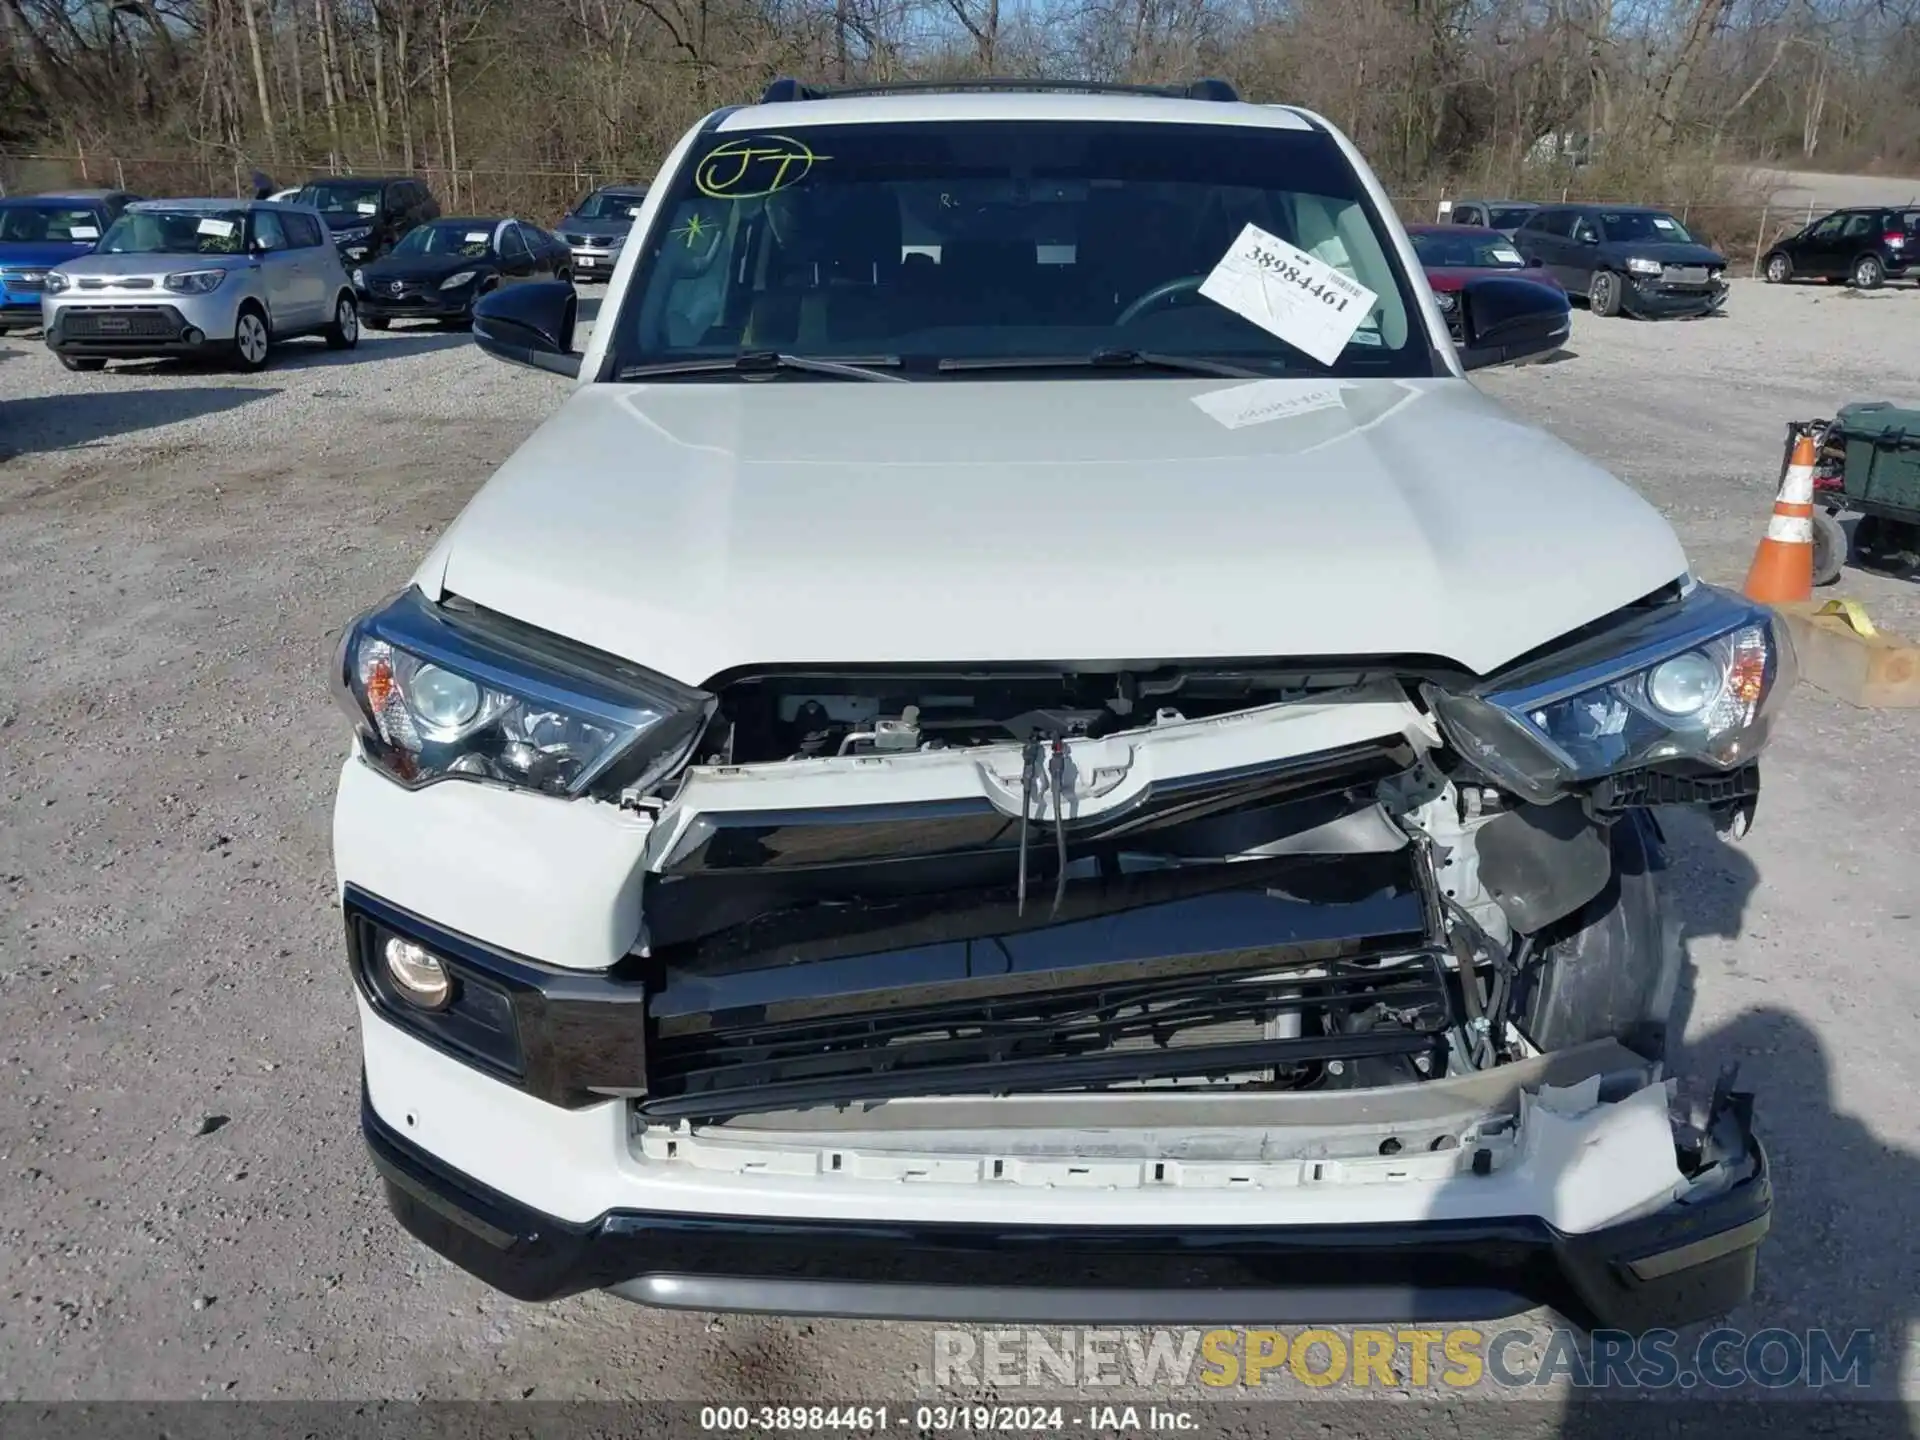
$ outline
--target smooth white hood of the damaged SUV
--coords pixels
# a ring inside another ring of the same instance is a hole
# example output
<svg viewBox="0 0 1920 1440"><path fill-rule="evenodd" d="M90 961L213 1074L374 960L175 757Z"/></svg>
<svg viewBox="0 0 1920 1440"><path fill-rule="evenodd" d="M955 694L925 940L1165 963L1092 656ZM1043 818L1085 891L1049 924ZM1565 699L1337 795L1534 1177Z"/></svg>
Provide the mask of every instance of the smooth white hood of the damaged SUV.
<svg viewBox="0 0 1920 1440"><path fill-rule="evenodd" d="M574 392L419 572L685 684L743 664L1430 655L1678 578L1634 492L1457 378Z"/></svg>

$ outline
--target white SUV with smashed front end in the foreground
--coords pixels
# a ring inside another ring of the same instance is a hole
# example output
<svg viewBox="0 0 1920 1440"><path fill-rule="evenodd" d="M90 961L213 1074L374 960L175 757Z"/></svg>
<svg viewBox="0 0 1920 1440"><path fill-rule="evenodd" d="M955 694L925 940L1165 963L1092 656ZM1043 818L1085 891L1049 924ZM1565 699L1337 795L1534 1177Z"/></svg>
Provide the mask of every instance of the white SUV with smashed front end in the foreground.
<svg viewBox="0 0 1920 1440"><path fill-rule="evenodd" d="M528 1300L1678 1325L1747 1096L1661 1064L1655 804L1791 651L1465 376L1317 115L791 81L662 167L578 376L338 659L365 1131Z"/></svg>

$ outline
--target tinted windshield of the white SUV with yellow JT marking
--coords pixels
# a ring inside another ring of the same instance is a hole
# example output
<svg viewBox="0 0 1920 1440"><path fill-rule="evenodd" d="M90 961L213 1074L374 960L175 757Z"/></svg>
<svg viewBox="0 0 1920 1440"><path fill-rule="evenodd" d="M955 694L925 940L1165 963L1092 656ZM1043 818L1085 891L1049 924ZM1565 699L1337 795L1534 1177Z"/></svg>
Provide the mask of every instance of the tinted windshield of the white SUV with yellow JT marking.
<svg viewBox="0 0 1920 1440"><path fill-rule="evenodd" d="M1127 349L1256 374L1434 372L1380 219L1315 131L718 132L670 186L616 319L618 369L791 351L900 357L916 376ZM1248 227L1260 253L1210 280Z"/></svg>

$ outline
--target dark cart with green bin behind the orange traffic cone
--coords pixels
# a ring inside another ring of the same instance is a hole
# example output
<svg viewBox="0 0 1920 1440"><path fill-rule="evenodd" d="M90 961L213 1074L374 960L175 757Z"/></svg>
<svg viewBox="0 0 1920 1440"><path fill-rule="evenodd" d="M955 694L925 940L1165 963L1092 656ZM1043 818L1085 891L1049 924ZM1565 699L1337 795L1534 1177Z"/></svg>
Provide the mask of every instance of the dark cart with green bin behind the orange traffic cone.
<svg viewBox="0 0 1920 1440"><path fill-rule="evenodd" d="M1788 424L1793 442L1811 432L1820 463L1812 493L1812 580L1830 586L1851 559L1868 570L1920 572L1920 409L1884 399L1843 405L1832 420ZM1839 516L1859 515L1849 555Z"/></svg>

